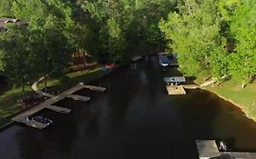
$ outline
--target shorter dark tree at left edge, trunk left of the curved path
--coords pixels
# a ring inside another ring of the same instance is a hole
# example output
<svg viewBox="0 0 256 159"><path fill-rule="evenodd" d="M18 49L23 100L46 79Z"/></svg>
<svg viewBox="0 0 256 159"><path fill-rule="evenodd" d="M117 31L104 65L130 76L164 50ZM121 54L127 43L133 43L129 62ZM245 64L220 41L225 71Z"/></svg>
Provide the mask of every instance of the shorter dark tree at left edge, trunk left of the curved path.
<svg viewBox="0 0 256 159"><path fill-rule="evenodd" d="M24 27L8 25L1 34L1 63L11 83L21 85L25 98L25 85L35 79L35 55L29 49L28 31Z"/></svg>

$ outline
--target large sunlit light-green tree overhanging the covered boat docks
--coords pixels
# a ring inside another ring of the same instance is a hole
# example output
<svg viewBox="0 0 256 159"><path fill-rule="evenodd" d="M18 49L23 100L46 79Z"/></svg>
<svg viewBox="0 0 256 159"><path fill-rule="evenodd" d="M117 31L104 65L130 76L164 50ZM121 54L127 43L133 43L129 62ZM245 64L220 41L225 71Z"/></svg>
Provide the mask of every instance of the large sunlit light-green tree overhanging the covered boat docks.
<svg viewBox="0 0 256 159"><path fill-rule="evenodd" d="M214 0L179 1L178 13L161 21L170 50L179 53L180 71L186 75L210 74L210 57L222 50L220 14ZM213 61L213 60L212 60Z"/></svg>

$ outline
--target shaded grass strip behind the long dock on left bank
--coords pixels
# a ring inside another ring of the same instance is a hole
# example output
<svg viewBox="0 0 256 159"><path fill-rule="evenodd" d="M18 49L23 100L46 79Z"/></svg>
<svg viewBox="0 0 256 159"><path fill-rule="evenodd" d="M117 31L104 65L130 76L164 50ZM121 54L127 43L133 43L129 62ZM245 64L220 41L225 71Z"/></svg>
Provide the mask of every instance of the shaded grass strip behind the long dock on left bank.
<svg viewBox="0 0 256 159"><path fill-rule="evenodd" d="M106 72L102 72L101 69L101 66L97 66L92 69L69 73L66 76L56 79L49 79L47 81L47 86L54 90L63 91L75 84L78 84L79 82L86 83L105 75ZM39 84L38 87L43 88L44 84ZM31 85L26 85L25 90L26 94L31 94ZM11 117L21 111L21 107L16 104L16 101L21 98L22 90L19 87L10 88L0 94L0 127L9 123L11 121Z"/></svg>

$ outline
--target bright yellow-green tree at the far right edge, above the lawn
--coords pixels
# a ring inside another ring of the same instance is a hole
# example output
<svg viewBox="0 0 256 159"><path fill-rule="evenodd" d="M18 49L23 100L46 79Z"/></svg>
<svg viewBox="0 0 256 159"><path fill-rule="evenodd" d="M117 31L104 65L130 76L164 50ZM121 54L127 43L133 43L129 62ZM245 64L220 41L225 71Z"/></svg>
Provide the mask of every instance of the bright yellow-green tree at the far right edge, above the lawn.
<svg viewBox="0 0 256 159"><path fill-rule="evenodd" d="M236 40L236 52L231 55L230 72L242 79L242 87L256 75L256 4L242 0L231 16L230 32Z"/></svg>

